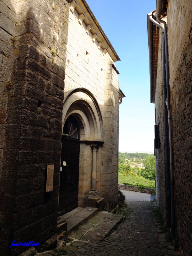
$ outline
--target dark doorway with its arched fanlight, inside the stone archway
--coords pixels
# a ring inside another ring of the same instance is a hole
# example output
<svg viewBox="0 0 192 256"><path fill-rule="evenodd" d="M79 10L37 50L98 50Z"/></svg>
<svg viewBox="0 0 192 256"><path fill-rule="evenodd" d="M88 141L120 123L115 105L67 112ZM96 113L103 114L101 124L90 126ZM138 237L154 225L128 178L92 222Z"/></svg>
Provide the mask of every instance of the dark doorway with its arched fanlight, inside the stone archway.
<svg viewBox="0 0 192 256"><path fill-rule="evenodd" d="M62 132L59 211L62 214L78 206L79 128L74 116L65 121Z"/></svg>

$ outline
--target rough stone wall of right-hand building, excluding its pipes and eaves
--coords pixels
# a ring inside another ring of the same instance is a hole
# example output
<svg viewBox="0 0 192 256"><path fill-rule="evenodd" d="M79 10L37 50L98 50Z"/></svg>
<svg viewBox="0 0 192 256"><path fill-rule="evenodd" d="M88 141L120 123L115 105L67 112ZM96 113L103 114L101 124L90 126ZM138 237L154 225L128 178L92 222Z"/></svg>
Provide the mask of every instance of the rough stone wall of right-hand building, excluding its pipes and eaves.
<svg viewBox="0 0 192 256"><path fill-rule="evenodd" d="M170 66L172 140L174 157L174 196L176 235L184 255L192 253L191 220L191 97L192 97L192 3L188 0L169 1L167 9L168 50ZM159 43L156 83L156 124L160 127L160 149L156 158L156 198L165 223L170 224L166 202L164 171L164 129L161 78L161 47Z"/></svg>

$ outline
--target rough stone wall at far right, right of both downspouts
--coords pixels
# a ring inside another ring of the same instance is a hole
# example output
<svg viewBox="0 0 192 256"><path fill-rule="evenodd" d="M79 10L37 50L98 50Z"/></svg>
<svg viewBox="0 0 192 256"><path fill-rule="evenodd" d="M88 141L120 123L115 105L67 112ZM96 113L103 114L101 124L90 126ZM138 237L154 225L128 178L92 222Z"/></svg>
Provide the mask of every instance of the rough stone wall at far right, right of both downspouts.
<svg viewBox="0 0 192 256"><path fill-rule="evenodd" d="M169 12L167 13L170 70L172 72L171 103L176 231L179 244L182 246L184 255L186 256L192 254L191 10L191 1L177 1L177 4L175 4L175 1L170 1L168 6Z"/></svg>

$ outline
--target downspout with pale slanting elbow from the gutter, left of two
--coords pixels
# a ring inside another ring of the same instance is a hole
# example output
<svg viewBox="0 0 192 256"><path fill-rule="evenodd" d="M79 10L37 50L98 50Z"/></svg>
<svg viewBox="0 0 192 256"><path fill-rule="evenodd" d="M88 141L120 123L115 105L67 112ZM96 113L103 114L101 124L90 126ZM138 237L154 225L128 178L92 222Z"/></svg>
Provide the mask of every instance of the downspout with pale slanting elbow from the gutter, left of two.
<svg viewBox="0 0 192 256"><path fill-rule="evenodd" d="M166 82L165 82L165 54L164 54L164 28L152 18L152 13L148 14L148 19L161 29L161 55L162 55L162 89L163 89L163 117L164 117L164 150L165 150L165 174L166 174L166 195L170 200L170 175L169 175L169 145L168 145L168 124L167 124L167 106L166 106ZM152 45L151 45L152 46ZM150 70L152 74L152 70ZM166 202L167 203L167 202ZM170 203L170 202L168 202Z"/></svg>

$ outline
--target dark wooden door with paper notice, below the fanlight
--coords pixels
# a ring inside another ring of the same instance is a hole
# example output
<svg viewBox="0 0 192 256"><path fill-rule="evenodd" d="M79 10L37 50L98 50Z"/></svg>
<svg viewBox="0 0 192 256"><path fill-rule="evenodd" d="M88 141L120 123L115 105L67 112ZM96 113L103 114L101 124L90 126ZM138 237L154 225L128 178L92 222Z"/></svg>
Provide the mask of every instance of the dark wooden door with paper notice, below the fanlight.
<svg viewBox="0 0 192 256"><path fill-rule="evenodd" d="M62 138L59 189L59 211L62 211L62 214L78 206L79 148L78 139ZM66 166L63 166L63 161Z"/></svg>

